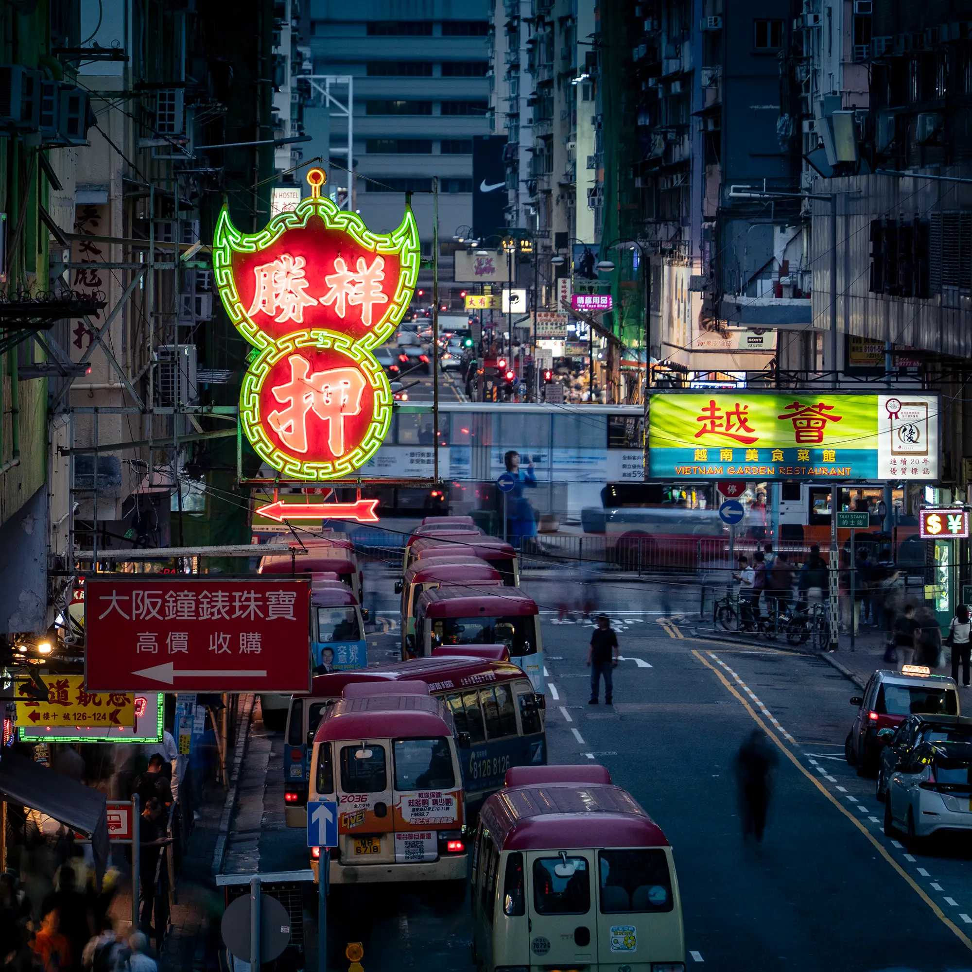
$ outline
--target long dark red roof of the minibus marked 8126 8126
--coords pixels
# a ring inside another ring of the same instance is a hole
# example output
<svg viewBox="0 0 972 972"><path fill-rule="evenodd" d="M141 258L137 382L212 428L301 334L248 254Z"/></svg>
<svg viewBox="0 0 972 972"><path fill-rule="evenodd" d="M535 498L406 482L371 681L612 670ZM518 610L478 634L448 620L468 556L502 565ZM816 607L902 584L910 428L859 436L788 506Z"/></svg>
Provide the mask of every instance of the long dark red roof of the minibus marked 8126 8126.
<svg viewBox="0 0 972 972"><path fill-rule="evenodd" d="M526 678L527 674L512 662L495 662L486 658L413 658L411 661L371 665L366 669L330 672L311 679L313 698L339 699L345 685L356 681L399 681L419 678L432 691L463 688L468 685L487 685L497 681ZM300 698L300 696L295 696Z"/></svg>

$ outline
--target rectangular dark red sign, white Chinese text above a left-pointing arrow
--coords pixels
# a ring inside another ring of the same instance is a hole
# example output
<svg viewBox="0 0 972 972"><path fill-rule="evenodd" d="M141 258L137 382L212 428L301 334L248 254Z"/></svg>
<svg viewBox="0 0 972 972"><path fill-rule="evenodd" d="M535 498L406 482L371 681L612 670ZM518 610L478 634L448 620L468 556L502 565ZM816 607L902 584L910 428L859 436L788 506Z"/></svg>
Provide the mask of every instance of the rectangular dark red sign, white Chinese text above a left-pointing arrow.
<svg viewBox="0 0 972 972"><path fill-rule="evenodd" d="M89 578L87 691L306 692L309 603L304 580Z"/></svg>

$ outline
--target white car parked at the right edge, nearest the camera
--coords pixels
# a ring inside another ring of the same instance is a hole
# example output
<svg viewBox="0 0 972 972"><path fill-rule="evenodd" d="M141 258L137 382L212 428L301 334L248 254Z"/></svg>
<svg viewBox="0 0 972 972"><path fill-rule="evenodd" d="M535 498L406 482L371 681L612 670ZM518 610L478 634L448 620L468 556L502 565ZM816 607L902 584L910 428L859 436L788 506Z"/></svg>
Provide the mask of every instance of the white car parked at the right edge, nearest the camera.
<svg viewBox="0 0 972 972"><path fill-rule="evenodd" d="M914 847L940 830L972 830L972 743L920 743L887 781L888 837Z"/></svg>

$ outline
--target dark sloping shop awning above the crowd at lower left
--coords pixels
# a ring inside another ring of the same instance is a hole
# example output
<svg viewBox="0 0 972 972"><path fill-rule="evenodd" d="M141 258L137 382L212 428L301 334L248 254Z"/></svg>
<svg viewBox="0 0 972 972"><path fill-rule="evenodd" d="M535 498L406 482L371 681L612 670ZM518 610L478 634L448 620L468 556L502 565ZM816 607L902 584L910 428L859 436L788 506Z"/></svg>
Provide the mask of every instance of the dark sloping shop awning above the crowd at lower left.
<svg viewBox="0 0 972 972"><path fill-rule="evenodd" d="M104 793L62 777L10 748L0 749L0 796L91 838L98 885L108 864L108 801Z"/></svg>

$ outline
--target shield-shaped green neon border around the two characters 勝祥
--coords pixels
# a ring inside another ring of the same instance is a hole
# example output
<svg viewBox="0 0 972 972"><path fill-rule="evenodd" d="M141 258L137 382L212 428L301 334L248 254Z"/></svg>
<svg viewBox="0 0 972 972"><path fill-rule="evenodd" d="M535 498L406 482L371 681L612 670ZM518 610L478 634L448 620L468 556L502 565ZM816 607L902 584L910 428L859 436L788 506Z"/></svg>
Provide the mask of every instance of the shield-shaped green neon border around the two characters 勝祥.
<svg viewBox="0 0 972 972"><path fill-rule="evenodd" d="M319 216L325 226L347 233L365 250L380 255L398 256L400 261L399 286L381 320L358 339L358 343L370 350L377 347L394 331L408 309L419 274L419 237L415 216L406 207L401 225L392 233L373 233L357 214L338 209L326 197L301 200L295 210L278 213L259 233L241 233L229 219L224 203L213 235L213 275L216 287L226 307L226 313L237 330L255 347L261 350L272 347L274 339L265 333L243 309L232 275L232 254L256 253L275 243L288 229L302 229L311 216ZM295 329L293 333L307 330ZM280 340L278 338L278 340Z"/></svg>

